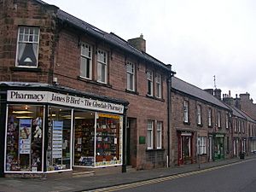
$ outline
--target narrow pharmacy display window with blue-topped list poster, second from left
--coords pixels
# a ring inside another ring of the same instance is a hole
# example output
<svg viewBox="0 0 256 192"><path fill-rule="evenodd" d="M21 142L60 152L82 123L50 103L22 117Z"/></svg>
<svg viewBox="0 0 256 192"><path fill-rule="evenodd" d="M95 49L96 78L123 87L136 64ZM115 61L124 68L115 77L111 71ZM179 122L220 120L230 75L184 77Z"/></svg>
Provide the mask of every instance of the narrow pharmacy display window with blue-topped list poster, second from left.
<svg viewBox="0 0 256 192"><path fill-rule="evenodd" d="M46 152L47 171L71 169L72 110L49 108L48 146Z"/></svg>

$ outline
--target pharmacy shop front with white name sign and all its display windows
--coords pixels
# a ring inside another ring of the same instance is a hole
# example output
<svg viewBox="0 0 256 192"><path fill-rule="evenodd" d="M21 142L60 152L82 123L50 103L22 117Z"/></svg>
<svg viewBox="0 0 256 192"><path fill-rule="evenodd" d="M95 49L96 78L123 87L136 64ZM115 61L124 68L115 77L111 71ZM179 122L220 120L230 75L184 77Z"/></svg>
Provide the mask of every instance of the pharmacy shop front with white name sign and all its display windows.
<svg viewBox="0 0 256 192"><path fill-rule="evenodd" d="M126 102L63 90L5 94L2 175L123 165Z"/></svg>

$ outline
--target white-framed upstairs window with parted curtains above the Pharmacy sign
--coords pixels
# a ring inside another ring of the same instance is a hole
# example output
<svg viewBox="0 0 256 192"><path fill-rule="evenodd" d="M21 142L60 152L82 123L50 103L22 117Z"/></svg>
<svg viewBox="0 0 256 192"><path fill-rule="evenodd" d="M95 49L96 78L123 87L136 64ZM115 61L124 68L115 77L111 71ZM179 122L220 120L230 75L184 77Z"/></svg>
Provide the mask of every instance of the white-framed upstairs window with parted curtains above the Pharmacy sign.
<svg viewBox="0 0 256 192"><path fill-rule="evenodd" d="M38 67L38 44L38 27L19 27L16 67Z"/></svg>

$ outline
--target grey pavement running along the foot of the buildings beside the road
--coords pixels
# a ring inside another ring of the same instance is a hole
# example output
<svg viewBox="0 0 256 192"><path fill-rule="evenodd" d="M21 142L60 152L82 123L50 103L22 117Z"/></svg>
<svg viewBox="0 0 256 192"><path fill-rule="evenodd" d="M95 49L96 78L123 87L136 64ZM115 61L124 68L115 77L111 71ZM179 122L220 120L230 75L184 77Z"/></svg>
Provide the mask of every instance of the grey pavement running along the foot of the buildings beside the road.
<svg viewBox="0 0 256 192"><path fill-rule="evenodd" d="M256 160L256 154L246 156L244 160L233 158L230 160L218 160L200 165L191 164L184 166L173 166L155 168L142 171L131 171L108 175L95 175L90 177L69 178L10 178L0 177L0 192L70 192L87 191L125 183L146 181L158 177L168 177L184 172L194 172L216 166L224 166L239 161Z"/></svg>

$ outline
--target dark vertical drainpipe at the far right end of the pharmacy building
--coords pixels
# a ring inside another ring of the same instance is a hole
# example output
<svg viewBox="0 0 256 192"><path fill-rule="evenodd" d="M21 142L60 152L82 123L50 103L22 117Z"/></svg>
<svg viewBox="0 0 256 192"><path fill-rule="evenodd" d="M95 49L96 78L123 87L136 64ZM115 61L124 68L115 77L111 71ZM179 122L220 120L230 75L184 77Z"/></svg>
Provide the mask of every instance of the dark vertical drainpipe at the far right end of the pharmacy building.
<svg viewBox="0 0 256 192"><path fill-rule="evenodd" d="M172 65L168 64L169 67L168 78L167 78L167 167L170 166L170 159L171 159L171 149L172 149L172 142L171 142L171 119L172 119L172 77L175 72L172 72Z"/></svg>

